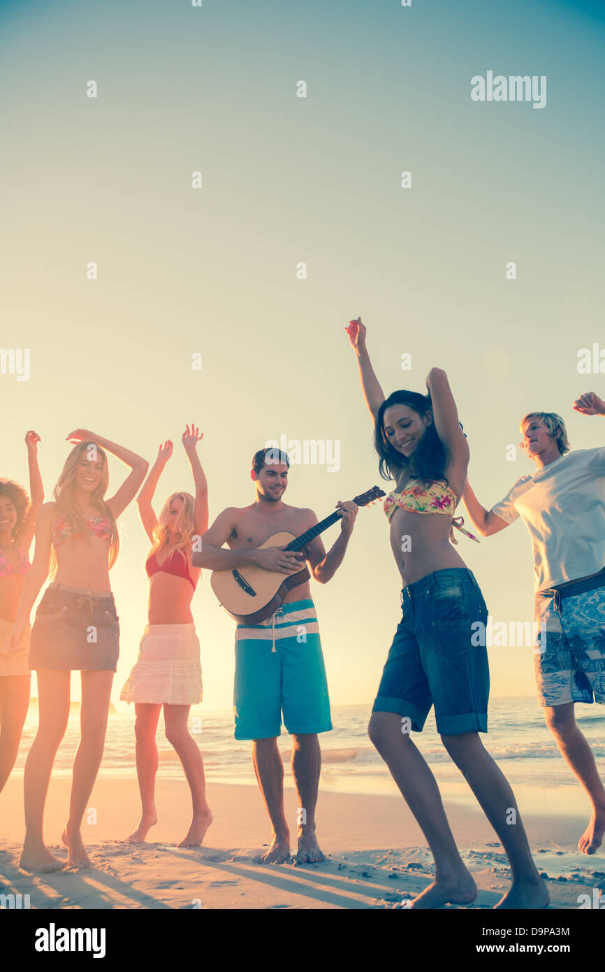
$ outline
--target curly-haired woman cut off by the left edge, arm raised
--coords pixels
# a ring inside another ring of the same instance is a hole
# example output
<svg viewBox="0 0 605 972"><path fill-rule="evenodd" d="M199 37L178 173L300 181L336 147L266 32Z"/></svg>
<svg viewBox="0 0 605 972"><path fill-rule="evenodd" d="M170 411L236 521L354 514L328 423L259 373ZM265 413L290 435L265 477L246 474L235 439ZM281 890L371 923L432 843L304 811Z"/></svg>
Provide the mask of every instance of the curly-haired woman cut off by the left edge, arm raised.
<svg viewBox="0 0 605 972"><path fill-rule="evenodd" d="M29 459L27 492L12 479L0 479L0 790L11 775L29 706L27 650L9 651L18 601L29 571L29 548L36 515L44 500L35 432L25 435Z"/></svg>

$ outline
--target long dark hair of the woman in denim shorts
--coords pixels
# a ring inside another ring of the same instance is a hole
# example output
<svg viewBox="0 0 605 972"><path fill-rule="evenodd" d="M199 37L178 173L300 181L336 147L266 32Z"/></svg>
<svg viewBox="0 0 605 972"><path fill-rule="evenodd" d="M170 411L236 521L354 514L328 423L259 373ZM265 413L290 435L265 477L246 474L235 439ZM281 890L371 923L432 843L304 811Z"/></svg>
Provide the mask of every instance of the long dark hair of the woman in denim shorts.
<svg viewBox="0 0 605 972"><path fill-rule="evenodd" d="M433 405L429 395L419 395L418 392L393 392L385 399L378 411L376 429L374 430L374 446L380 456L379 471L383 479L396 479L404 469L410 469L416 479L432 482L435 479L445 479L448 467L448 452L437 434L435 423L431 422L426 432L420 437L413 455L407 459L401 452L394 449L385 434L385 412L391 405L407 405L420 417L430 412Z"/></svg>

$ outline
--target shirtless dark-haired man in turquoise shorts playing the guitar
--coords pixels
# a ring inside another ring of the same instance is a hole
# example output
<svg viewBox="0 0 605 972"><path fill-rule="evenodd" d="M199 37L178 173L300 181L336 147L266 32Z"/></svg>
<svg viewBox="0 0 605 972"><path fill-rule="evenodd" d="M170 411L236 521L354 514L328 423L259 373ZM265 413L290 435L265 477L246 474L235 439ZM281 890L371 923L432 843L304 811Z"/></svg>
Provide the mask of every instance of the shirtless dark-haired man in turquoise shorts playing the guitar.
<svg viewBox="0 0 605 972"><path fill-rule="evenodd" d="M252 460L256 498L250 506L228 506L202 536L194 567L226 571L256 564L267 571L309 572L325 584L340 567L353 531L355 503L337 503L342 512L339 538L326 554L319 537L304 552L282 547L258 549L273 534L299 537L318 519L312 509L283 502L289 461L279 449L260 449ZM226 543L229 550L221 549ZM301 637L302 631L302 637ZM292 737L292 776L298 794L297 863L324 860L316 837L321 753L318 733L332 728L327 681L309 580L287 592L281 608L261 624L239 624L235 641L235 738L252 740L256 780L271 819L272 841L260 861L283 864L290 853L284 811L284 763L278 748L282 710Z"/></svg>

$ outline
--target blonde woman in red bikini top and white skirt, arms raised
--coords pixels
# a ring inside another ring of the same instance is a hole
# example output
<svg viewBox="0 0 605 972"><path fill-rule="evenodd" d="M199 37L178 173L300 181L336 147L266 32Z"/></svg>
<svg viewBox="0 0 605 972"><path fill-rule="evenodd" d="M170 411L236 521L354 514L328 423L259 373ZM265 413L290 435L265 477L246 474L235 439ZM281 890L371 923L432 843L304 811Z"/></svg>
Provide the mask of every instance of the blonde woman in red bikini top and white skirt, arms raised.
<svg viewBox="0 0 605 972"><path fill-rule="evenodd" d="M173 493L164 503L159 518L153 512L151 501L155 488L172 456L173 444L168 440L160 446L137 499L152 546L146 563L150 578L148 625L137 663L120 694L125 702L134 702L136 712L137 776L142 811L139 823L128 838L134 843L145 841L148 830L157 822L155 732L162 706L166 738L183 764L193 805L191 825L179 847L198 847L212 823L206 802L202 754L187 726L190 707L202 699L200 646L191 616L191 598L200 575L200 569L191 566L191 547L194 538L208 530L208 486L196 451L202 437L203 433L200 435L194 425L190 429L186 426L183 445L193 473L195 498L185 492Z"/></svg>

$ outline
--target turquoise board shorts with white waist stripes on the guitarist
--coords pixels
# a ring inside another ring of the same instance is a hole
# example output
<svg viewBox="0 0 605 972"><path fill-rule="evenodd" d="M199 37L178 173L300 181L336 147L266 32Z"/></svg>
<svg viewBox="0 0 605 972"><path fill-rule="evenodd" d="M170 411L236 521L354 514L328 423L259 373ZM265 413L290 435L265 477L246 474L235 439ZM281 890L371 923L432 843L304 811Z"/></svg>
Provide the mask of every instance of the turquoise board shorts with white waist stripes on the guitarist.
<svg viewBox="0 0 605 972"><path fill-rule="evenodd" d="M236 739L332 728L313 601L282 605L261 624L238 624L233 693Z"/></svg>

